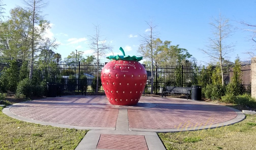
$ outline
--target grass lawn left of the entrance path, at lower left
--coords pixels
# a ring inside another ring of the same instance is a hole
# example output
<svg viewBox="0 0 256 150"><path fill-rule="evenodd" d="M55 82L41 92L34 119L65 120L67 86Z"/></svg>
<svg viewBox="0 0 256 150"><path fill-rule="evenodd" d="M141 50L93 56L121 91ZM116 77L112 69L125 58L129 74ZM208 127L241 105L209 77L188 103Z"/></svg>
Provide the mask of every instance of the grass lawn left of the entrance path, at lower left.
<svg viewBox="0 0 256 150"><path fill-rule="evenodd" d="M6 116L0 107L1 150L75 149L87 130L33 124Z"/></svg>

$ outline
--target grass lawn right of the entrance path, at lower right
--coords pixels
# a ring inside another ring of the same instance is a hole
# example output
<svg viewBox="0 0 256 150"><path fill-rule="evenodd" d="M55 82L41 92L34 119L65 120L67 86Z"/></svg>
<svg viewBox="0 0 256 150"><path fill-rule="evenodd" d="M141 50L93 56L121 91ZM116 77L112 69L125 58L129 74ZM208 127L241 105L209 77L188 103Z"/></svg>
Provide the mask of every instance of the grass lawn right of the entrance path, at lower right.
<svg viewBox="0 0 256 150"><path fill-rule="evenodd" d="M256 149L256 115L216 129L158 133L167 150Z"/></svg>

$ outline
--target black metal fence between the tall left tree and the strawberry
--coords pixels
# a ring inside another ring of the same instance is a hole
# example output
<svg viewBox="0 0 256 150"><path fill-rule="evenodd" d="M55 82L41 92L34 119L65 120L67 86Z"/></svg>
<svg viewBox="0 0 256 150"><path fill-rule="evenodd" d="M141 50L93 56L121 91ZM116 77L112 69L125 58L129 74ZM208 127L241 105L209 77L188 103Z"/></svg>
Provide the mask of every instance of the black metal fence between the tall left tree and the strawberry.
<svg viewBox="0 0 256 150"><path fill-rule="evenodd" d="M97 70L100 79L100 72L104 64L87 64L87 63L68 63L59 62L45 64L34 64L33 78L39 77L40 80L46 80L48 82L58 82L60 84L81 84L86 80L87 92L95 92L97 81ZM100 82L101 84L101 82ZM103 93L104 90L100 86L99 93Z"/></svg>

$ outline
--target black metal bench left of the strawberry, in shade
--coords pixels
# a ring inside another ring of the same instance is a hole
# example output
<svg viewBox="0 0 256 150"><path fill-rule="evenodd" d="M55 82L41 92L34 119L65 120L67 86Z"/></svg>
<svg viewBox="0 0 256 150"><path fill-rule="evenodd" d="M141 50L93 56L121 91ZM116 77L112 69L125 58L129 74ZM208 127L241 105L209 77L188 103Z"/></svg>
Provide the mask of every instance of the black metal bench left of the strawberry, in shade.
<svg viewBox="0 0 256 150"><path fill-rule="evenodd" d="M61 96L64 93L84 93L86 95L86 89L83 85L77 84L59 84L57 85L57 94Z"/></svg>

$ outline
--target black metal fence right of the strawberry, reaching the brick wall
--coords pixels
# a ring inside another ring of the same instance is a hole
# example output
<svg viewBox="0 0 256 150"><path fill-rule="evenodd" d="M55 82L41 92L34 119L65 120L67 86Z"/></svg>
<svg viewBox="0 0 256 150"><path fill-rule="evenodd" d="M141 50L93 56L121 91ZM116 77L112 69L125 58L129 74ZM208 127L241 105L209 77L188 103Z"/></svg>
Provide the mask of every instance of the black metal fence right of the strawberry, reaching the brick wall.
<svg viewBox="0 0 256 150"><path fill-rule="evenodd" d="M224 69L224 83L227 85L234 76L235 64L226 64ZM212 83L212 76L215 74L221 79L221 74L214 72L217 66L154 66L153 94L160 94L164 86L190 87L199 85L205 87ZM150 94L152 68L145 66L148 73L147 86L145 94ZM251 61L240 62L240 82L242 85L240 94L251 94Z"/></svg>

